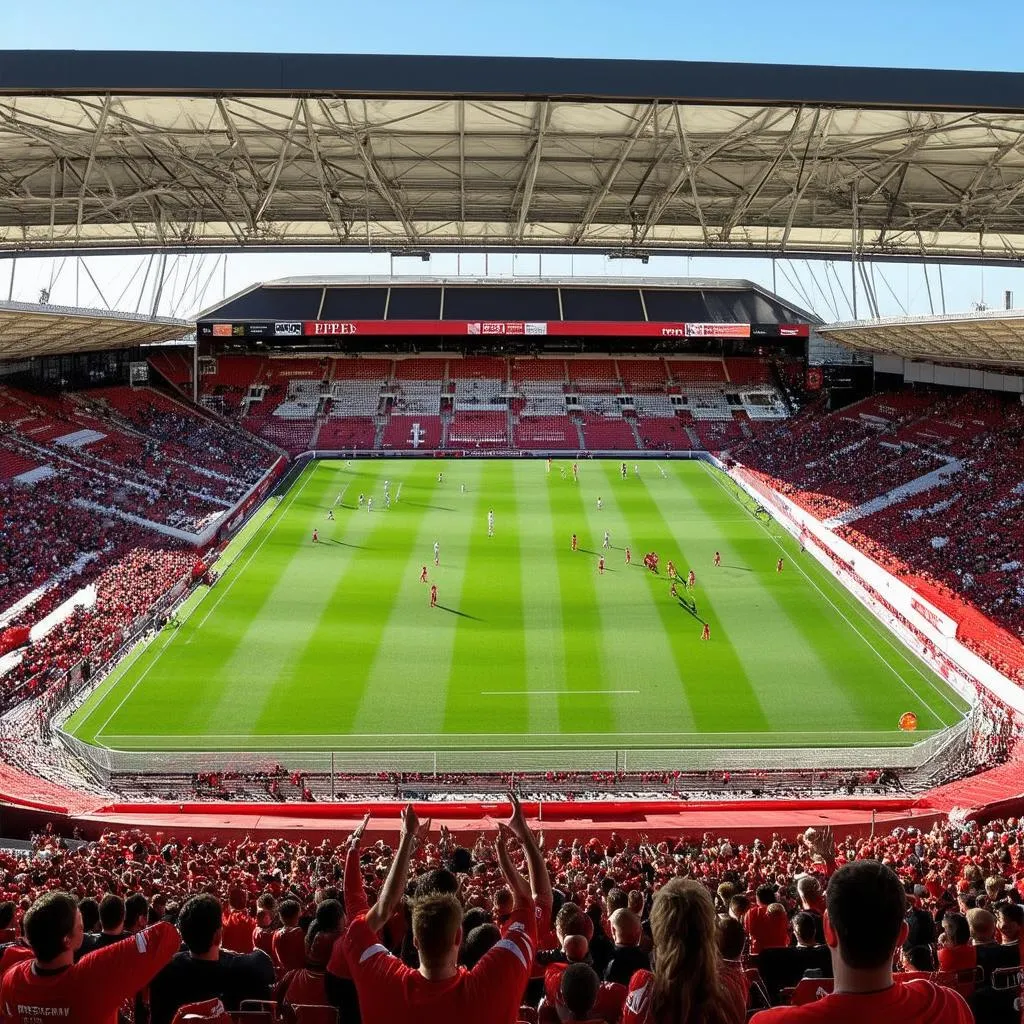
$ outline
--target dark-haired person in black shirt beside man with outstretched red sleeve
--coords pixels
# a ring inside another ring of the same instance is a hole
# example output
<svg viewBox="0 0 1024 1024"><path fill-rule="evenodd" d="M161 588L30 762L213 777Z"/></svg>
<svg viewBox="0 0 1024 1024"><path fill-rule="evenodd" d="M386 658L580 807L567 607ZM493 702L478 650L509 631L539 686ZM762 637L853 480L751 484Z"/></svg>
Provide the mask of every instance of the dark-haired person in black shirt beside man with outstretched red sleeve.
<svg viewBox="0 0 1024 1024"><path fill-rule="evenodd" d="M219 997L233 1012L243 999L267 999L273 985L273 964L262 949L234 953L221 949L220 901L204 894L181 908L178 931L185 949L178 952L153 981L150 998L153 1024L170 1024L186 1002Z"/></svg>

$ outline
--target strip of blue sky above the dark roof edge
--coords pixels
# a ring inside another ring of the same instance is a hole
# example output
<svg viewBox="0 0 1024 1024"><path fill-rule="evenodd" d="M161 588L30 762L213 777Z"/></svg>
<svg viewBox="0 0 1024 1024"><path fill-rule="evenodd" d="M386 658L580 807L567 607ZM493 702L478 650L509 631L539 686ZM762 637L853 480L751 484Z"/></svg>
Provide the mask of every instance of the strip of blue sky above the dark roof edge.
<svg viewBox="0 0 1024 1024"><path fill-rule="evenodd" d="M48 0L11 3L11 48L657 57L1021 67L1024 5L995 0Z"/></svg>

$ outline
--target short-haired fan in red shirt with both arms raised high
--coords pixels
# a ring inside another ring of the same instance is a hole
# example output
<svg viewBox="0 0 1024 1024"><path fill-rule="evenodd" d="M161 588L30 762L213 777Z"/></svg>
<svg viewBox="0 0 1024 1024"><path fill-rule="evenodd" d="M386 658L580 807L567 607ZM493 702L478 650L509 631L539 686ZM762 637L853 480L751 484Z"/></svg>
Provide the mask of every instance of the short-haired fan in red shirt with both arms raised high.
<svg viewBox="0 0 1024 1024"><path fill-rule="evenodd" d="M513 893L513 910L504 938L472 970L459 967L463 909L449 893L430 893L413 903L413 942L420 956L419 971L406 967L378 941L378 933L406 887L419 827L412 805L402 812L398 851L373 907L367 906L358 838L353 837L345 864L345 912L351 924L343 941L359 995L362 1024L404 1020L513 1024L517 1019L537 943L531 890L547 902L551 882L544 855L514 797L512 806L512 820L500 826L496 850ZM508 843L513 836L526 855L528 883L512 863Z"/></svg>

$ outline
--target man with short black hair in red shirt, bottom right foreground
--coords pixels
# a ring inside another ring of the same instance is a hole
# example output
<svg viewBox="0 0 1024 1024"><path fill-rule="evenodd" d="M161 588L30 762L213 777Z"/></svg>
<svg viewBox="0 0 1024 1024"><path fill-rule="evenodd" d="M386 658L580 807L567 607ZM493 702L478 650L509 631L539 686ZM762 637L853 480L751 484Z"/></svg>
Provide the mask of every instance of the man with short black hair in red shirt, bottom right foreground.
<svg viewBox="0 0 1024 1024"><path fill-rule="evenodd" d="M906 895L895 872L877 860L846 864L831 877L825 903L831 994L764 1010L754 1024L973 1024L967 1002L952 989L894 979L893 954L908 932Z"/></svg>

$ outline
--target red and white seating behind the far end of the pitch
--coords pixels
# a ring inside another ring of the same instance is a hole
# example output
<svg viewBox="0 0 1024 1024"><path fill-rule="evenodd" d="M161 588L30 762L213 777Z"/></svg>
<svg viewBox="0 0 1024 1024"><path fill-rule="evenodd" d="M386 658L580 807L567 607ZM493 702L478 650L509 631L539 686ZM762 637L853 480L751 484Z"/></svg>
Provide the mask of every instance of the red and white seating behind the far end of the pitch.
<svg viewBox="0 0 1024 1024"><path fill-rule="evenodd" d="M241 365L232 369L236 360ZM168 361L165 356L158 365ZM720 452L755 436L761 423L790 415L773 383L772 365L754 356L730 357L731 381L726 364L711 357L292 361L294 369L282 358L220 356L203 375L201 401L292 455L357 445L410 447L415 422L407 422L410 417L426 431L419 446L429 449L478 451L515 442L526 450ZM392 416L399 417L393 425ZM439 424L433 422L437 417ZM336 422L346 419L355 422L347 427ZM531 425L535 419L539 423ZM657 420L670 422L652 422ZM687 430L694 421L719 425Z"/></svg>

